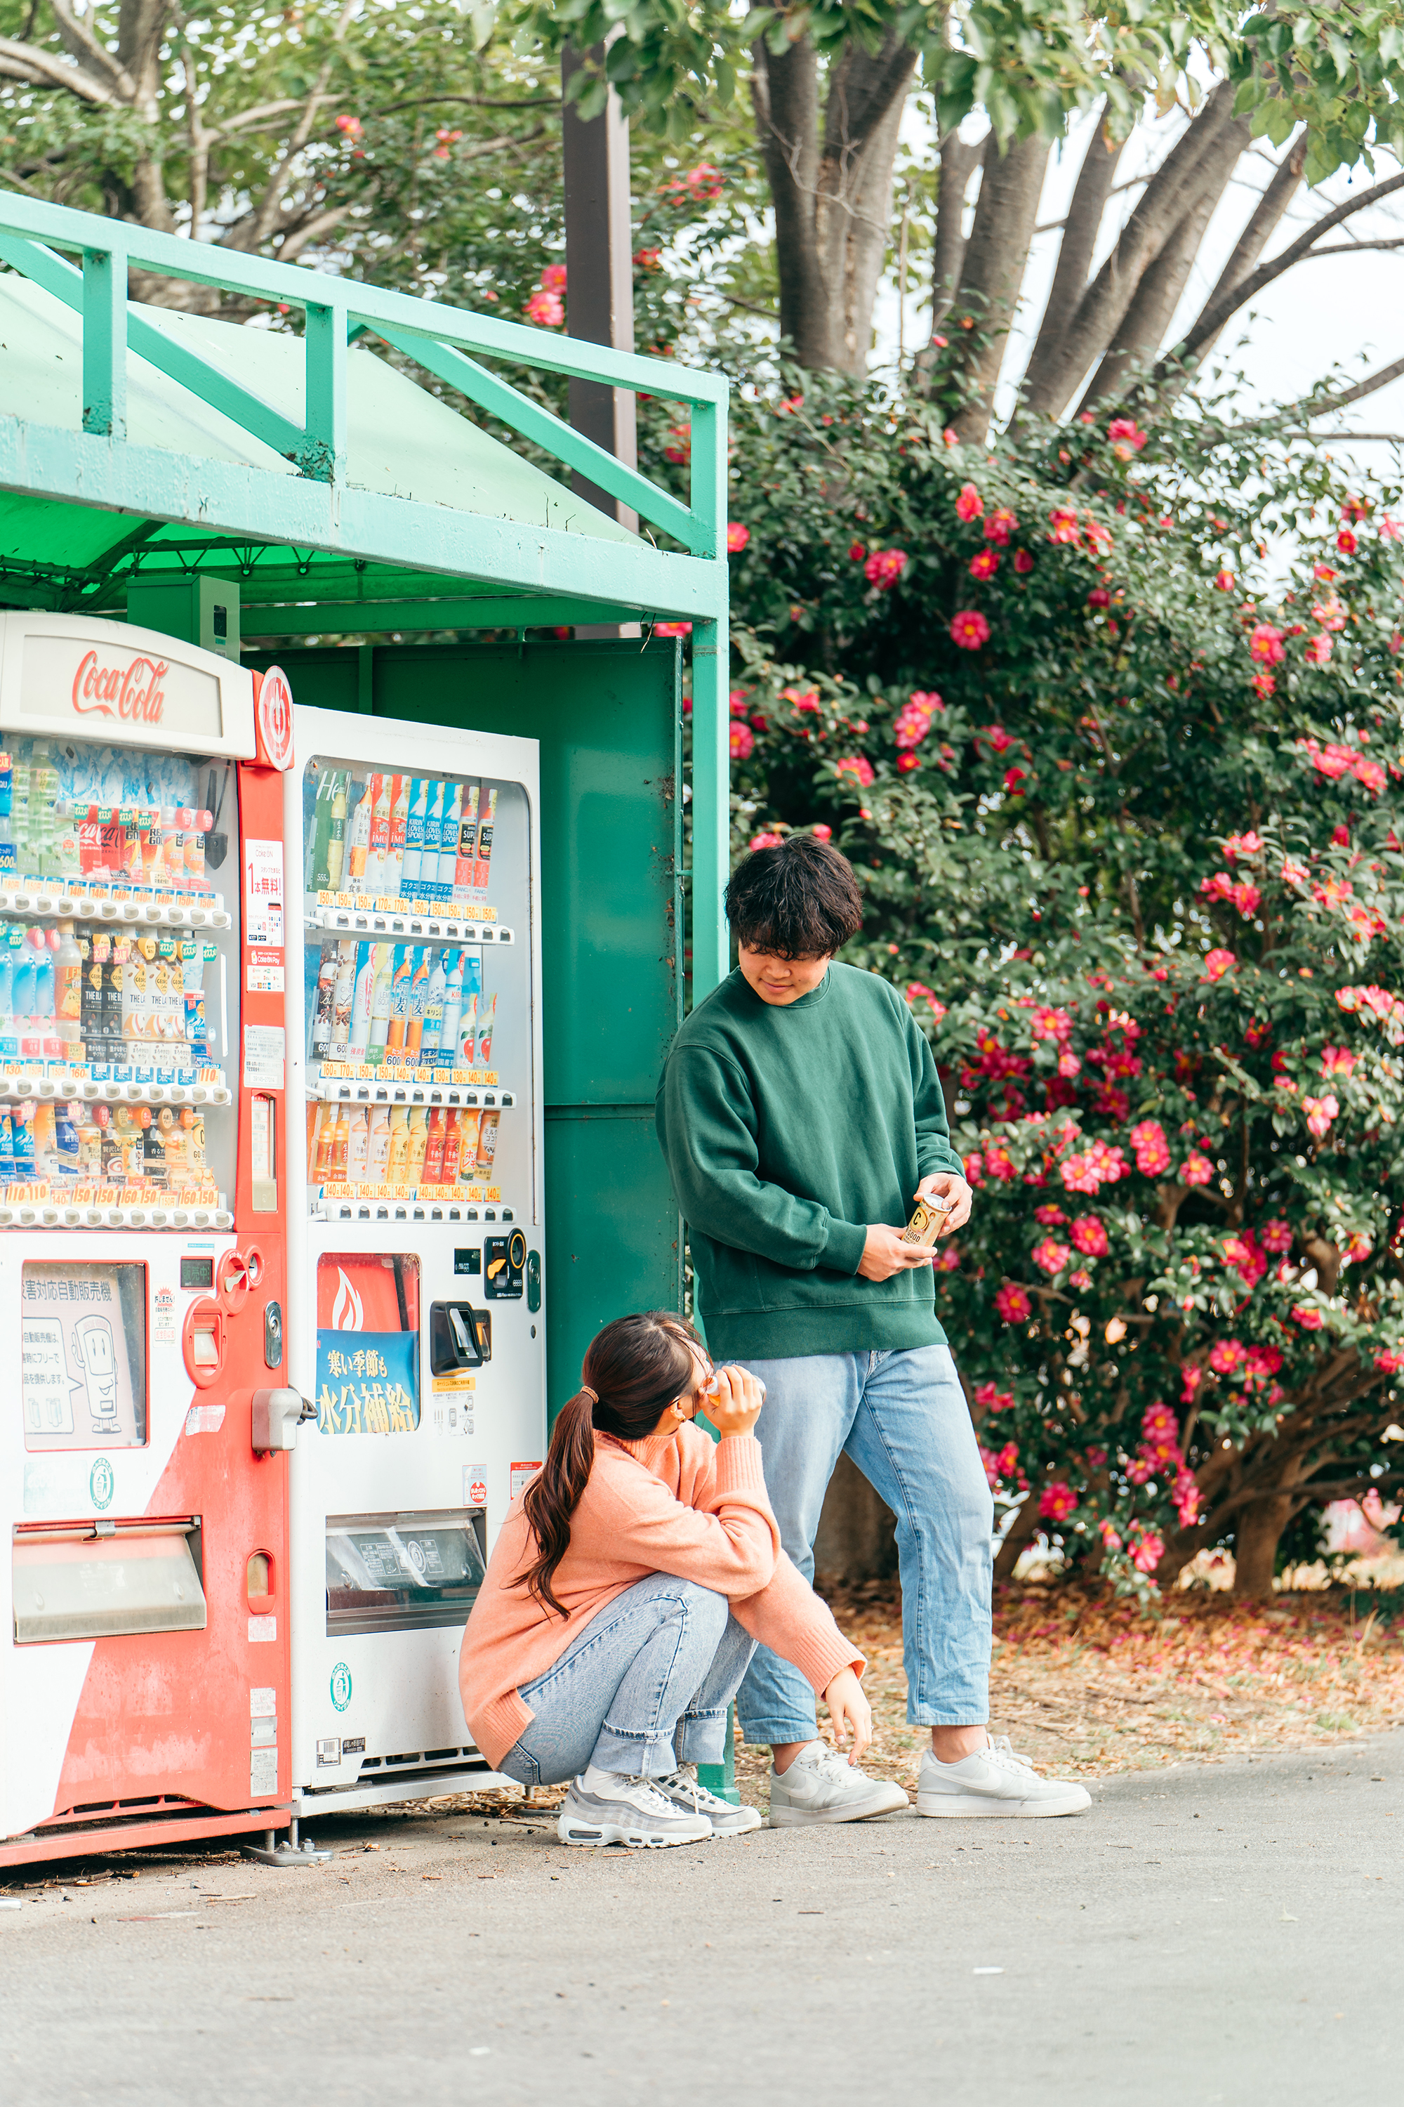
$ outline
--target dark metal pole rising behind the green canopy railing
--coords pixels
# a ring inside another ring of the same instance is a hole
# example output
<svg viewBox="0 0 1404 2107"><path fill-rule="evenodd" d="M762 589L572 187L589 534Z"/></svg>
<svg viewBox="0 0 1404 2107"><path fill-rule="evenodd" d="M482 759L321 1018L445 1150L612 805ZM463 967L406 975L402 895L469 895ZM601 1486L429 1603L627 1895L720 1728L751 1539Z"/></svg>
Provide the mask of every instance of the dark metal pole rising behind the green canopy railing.
<svg viewBox="0 0 1404 2107"><path fill-rule="evenodd" d="M604 65L604 44L587 59L566 46L560 55L562 97L585 63ZM577 105L562 101L562 160L566 177L566 331L585 343L634 350L634 255L629 213L629 126L610 88L604 114L583 122ZM606 381L570 381L570 426L594 438L619 461L638 468L634 392ZM638 529L638 514L573 472L570 489L621 527ZM581 632L577 630L577 636ZM606 634L617 634L608 630Z"/></svg>

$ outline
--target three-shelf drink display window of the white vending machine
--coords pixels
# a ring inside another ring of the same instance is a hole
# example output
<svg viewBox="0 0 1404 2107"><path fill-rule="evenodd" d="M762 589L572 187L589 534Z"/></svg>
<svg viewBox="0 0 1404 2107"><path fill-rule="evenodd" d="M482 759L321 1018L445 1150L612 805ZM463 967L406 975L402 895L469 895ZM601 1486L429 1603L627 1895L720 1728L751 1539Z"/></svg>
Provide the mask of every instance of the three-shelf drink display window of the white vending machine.
<svg viewBox="0 0 1404 2107"><path fill-rule="evenodd" d="M530 1075L528 834L522 784L307 763L314 1214L509 1201L499 1134Z"/></svg>

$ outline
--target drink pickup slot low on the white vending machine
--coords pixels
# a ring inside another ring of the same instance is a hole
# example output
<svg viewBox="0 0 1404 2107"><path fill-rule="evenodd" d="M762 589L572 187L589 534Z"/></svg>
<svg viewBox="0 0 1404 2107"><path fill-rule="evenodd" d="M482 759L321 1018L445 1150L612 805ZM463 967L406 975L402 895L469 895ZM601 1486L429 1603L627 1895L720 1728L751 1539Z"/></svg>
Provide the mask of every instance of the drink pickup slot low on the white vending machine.
<svg viewBox="0 0 1404 2107"><path fill-rule="evenodd" d="M463 1624L486 1570L482 1509L328 1515L326 1635Z"/></svg>

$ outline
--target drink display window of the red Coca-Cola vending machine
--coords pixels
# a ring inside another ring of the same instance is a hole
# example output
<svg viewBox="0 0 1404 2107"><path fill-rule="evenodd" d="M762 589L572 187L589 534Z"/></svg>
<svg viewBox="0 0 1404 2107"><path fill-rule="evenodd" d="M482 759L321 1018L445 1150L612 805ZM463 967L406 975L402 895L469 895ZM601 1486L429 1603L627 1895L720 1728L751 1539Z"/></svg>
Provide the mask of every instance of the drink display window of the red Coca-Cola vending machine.
<svg viewBox="0 0 1404 2107"><path fill-rule="evenodd" d="M0 1218L221 1212L234 1184L234 914L219 891L221 872L236 879L234 765L4 740Z"/></svg>

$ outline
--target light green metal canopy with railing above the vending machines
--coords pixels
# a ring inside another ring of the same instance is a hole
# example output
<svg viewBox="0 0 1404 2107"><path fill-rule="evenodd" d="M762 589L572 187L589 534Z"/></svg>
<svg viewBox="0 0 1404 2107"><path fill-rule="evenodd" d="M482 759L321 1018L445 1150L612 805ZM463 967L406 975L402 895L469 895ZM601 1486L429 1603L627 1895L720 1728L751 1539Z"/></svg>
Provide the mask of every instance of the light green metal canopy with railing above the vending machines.
<svg viewBox="0 0 1404 2107"><path fill-rule="evenodd" d="M0 198L0 607L120 615L133 575L208 569L238 577L244 636L688 624L695 990L724 976L718 375L32 198ZM128 303L133 268L261 303L269 322L299 310L303 335ZM573 432L501 365L684 405L688 499ZM512 438L631 508L644 531L594 510Z"/></svg>

